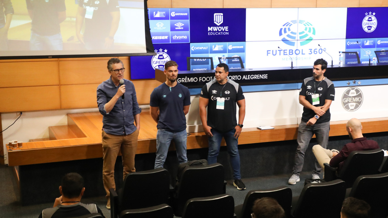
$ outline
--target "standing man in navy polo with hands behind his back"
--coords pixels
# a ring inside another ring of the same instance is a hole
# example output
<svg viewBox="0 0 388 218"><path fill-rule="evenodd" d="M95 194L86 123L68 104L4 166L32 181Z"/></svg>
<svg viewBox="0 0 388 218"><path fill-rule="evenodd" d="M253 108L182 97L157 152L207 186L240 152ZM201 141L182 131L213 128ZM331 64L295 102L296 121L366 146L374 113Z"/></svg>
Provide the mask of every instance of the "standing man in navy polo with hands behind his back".
<svg viewBox="0 0 388 218"><path fill-rule="evenodd" d="M178 163L187 162L185 115L189 112L191 104L190 92L187 87L177 82L177 62L167 61L164 72L166 82L152 91L149 102L152 119L158 123L155 169L163 167L171 140L175 142Z"/></svg>

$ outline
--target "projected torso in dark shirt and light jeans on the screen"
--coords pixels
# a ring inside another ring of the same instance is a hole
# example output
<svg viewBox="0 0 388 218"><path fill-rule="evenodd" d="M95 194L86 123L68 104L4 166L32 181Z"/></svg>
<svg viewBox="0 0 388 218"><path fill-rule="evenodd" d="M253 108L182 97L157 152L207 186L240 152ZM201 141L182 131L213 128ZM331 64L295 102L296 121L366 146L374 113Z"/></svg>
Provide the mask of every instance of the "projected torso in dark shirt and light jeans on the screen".
<svg viewBox="0 0 388 218"><path fill-rule="evenodd" d="M62 50L59 24L66 19L65 0L26 0L31 18L30 50Z"/></svg>

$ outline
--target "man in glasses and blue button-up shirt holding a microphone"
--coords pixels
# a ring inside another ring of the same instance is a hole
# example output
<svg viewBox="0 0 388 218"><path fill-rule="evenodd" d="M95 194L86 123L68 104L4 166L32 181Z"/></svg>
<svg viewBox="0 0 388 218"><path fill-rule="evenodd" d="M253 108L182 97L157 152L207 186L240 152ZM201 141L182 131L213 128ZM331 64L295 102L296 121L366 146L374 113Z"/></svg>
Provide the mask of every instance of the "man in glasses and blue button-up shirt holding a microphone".
<svg viewBox="0 0 388 218"><path fill-rule="evenodd" d="M114 164L119 151L123 158L123 178L135 172L137 137L140 130L140 112L133 83L124 79L125 68L118 58L108 61L111 77L97 88L97 104L102 119L102 152L104 163L102 181L108 199L106 207L111 208L109 189L116 189ZM136 126L133 124L136 123Z"/></svg>

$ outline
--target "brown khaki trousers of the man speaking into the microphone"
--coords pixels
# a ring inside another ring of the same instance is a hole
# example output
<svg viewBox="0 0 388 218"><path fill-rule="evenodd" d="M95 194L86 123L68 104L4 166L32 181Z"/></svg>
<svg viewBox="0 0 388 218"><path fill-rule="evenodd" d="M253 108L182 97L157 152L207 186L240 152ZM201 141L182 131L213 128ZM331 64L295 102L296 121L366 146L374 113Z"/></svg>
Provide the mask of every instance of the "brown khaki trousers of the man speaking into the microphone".
<svg viewBox="0 0 388 218"><path fill-rule="evenodd" d="M134 131L129 135L112 135L102 130L102 152L104 163L102 166L102 181L106 197L109 198L109 189L116 190L114 183L114 164L116 158L121 151L123 159L123 179L130 172L135 172L135 154L137 149L137 137L139 130Z"/></svg>

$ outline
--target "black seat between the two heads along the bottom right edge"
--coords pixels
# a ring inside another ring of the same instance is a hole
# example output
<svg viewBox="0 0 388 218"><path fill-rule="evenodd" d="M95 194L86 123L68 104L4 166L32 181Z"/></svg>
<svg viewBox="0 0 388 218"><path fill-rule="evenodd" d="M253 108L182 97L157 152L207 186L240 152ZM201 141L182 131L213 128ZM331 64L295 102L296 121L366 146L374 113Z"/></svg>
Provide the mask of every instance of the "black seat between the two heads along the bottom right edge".
<svg viewBox="0 0 388 218"><path fill-rule="evenodd" d="M295 218L340 218L345 192L345 182L339 179L307 184L303 187L300 196L293 198L293 216Z"/></svg>

